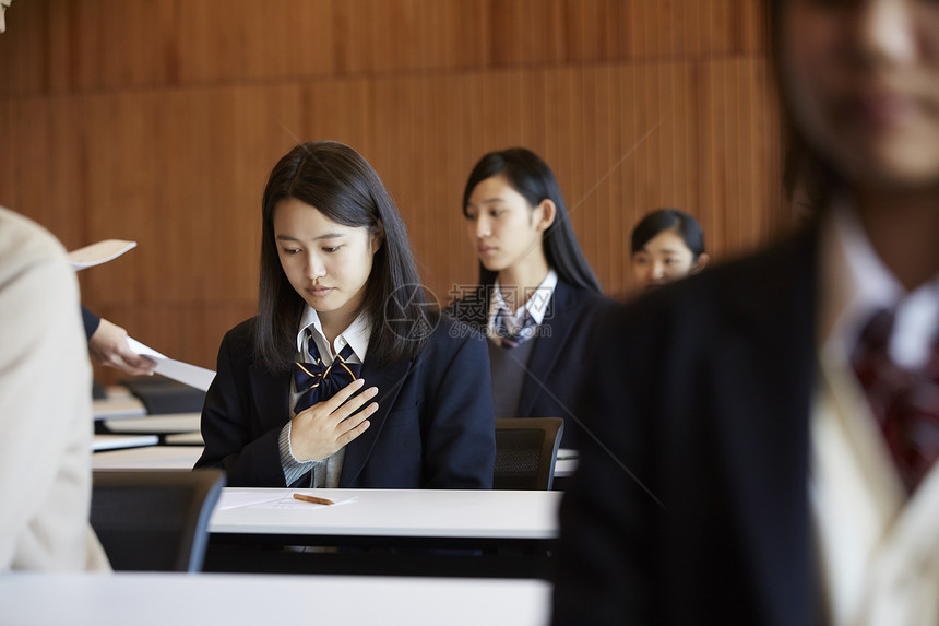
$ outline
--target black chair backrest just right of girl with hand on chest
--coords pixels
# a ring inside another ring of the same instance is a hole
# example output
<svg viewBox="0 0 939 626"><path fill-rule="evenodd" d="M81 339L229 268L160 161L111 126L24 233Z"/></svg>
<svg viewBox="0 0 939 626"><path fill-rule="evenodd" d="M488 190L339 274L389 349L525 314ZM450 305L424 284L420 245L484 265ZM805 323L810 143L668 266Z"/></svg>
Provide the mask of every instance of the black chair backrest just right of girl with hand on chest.
<svg viewBox="0 0 939 626"><path fill-rule="evenodd" d="M496 420L495 489L550 489L564 430L560 417Z"/></svg>

